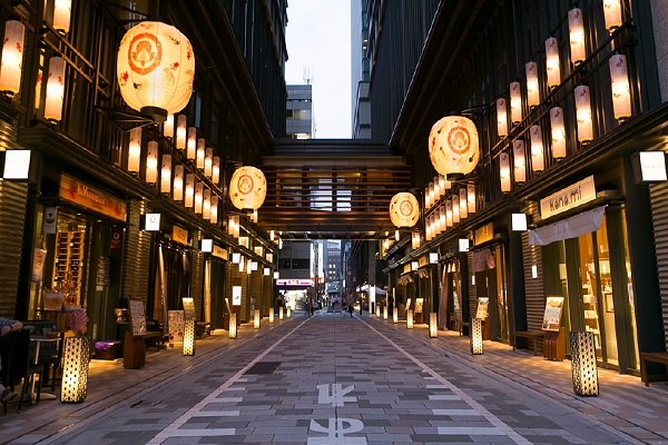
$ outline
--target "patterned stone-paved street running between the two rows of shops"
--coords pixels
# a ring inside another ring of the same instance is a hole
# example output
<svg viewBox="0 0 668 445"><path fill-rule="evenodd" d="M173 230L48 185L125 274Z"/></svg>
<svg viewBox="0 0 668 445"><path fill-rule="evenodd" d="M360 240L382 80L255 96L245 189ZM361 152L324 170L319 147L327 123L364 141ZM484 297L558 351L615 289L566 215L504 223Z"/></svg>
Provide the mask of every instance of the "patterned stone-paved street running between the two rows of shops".
<svg viewBox="0 0 668 445"><path fill-rule="evenodd" d="M0 425L14 444L668 443L665 383L601 370L601 396L581 398L569 362L485 348L473 357L458 335L366 315L297 314L199 342L195 357L150 354L138 370L95 360L86 403L10 406Z"/></svg>

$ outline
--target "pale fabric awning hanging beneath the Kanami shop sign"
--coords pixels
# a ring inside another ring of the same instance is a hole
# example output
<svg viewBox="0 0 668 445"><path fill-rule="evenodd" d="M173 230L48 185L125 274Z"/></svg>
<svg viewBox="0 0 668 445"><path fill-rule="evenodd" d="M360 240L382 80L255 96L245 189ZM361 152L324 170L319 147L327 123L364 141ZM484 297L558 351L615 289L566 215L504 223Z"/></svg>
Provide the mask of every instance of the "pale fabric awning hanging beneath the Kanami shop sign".
<svg viewBox="0 0 668 445"><path fill-rule="evenodd" d="M529 245L547 246L550 243L577 238L580 235L597 231L601 227L606 207L583 211L570 218L529 230Z"/></svg>

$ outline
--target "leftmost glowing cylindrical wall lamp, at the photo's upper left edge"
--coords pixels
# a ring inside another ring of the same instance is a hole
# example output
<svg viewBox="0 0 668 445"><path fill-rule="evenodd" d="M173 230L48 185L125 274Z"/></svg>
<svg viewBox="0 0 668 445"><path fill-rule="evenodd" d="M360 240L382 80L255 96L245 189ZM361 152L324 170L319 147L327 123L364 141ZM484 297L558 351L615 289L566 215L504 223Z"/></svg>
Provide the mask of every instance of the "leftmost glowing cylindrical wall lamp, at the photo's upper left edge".
<svg viewBox="0 0 668 445"><path fill-rule="evenodd" d="M26 27L18 20L4 22L4 43L0 66L0 91L16 95L21 89Z"/></svg>

